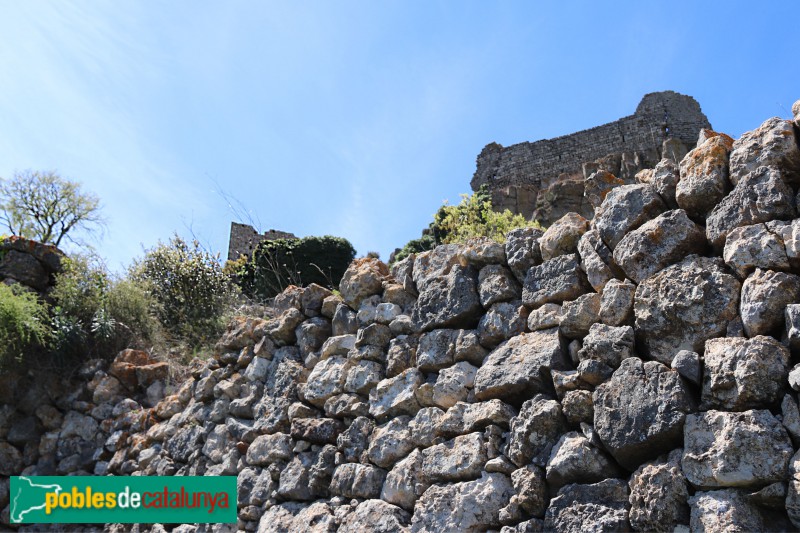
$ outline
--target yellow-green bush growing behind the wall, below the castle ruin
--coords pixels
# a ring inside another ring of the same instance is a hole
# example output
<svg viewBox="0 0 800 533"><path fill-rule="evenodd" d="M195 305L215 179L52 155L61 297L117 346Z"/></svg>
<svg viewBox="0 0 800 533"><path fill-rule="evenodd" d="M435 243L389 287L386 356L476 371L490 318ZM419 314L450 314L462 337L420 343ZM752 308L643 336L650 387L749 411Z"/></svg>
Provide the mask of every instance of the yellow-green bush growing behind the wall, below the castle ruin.
<svg viewBox="0 0 800 533"><path fill-rule="evenodd" d="M509 231L528 226L541 228L538 222L515 215L508 209L494 211L491 194L484 185L471 195L462 194L458 205L445 204L440 207L425 234L409 241L394 255L394 260L431 250L440 244L464 243L475 237L505 242Z"/></svg>

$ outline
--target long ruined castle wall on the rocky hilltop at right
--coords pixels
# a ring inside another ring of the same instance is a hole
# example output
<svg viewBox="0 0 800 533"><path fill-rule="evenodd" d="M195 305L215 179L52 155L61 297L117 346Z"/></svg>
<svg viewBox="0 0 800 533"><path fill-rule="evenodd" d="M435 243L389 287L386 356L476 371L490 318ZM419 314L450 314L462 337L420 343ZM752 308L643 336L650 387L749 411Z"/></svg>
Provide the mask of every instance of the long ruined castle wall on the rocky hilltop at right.
<svg viewBox="0 0 800 533"><path fill-rule="evenodd" d="M490 143L477 159L473 191L487 185L495 209L549 224L569 211L591 217L583 180L603 169L626 181L662 157L680 160L711 128L691 96L646 94L633 115L570 135L508 147Z"/></svg>

